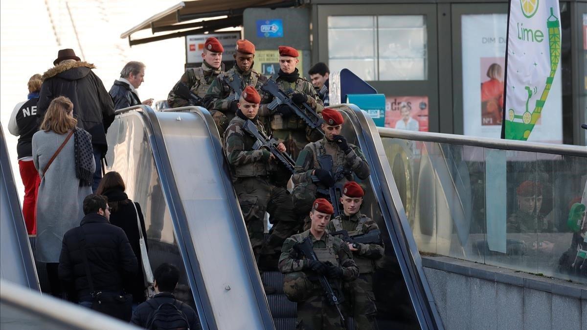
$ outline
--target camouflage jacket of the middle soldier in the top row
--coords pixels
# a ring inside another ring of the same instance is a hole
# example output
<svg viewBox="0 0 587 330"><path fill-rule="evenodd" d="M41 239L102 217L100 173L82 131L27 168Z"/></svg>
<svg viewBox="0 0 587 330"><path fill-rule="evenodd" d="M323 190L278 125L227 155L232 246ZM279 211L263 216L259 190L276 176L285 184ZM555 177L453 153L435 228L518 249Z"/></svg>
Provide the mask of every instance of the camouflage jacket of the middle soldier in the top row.
<svg viewBox="0 0 587 330"><path fill-rule="evenodd" d="M253 86L257 89L259 95L261 95L261 103L267 103L269 101L269 97L261 90L261 86L267 81L267 78L253 69L247 72L242 72L242 70L235 65L234 68L221 73L212 80L208 92L204 97L204 106L206 109L218 110L222 113L226 113L230 110L231 100L228 99L228 97L234 95L234 90L228 85L225 78L230 79L230 77L234 75L240 76L242 89L245 89L245 87L249 85Z"/></svg>

